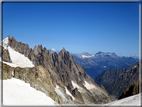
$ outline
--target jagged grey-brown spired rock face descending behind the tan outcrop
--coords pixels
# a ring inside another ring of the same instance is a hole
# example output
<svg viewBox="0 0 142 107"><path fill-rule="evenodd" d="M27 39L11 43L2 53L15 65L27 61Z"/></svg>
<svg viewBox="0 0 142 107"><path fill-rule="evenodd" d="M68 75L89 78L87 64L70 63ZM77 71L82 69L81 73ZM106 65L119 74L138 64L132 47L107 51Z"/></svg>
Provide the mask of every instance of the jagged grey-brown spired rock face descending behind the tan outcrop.
<svg viewBox="0 0 142 107"><path fill-rule="evenodd" d="M105 88L96 84L94 80L87 75L84 67L75 63L73 56L71 56L65 48L58 54L51 54L51 52L45 47L43 48L42 45L30 49L28 44L17 42L13 37L10 38L9 36L8 39L8 46L24 54L35 66L41 65L49 72L54 87L58 86L63 93L69 91L72 94L71 99L73 99L73 97L76 99L73 102L93 104L112 101L112 98L106 92ZM5 59L3 60L7 61ZM34 73L33 70L32 73ZM39 74L35 74L36 78L38 78L38 75Z"/></svg>

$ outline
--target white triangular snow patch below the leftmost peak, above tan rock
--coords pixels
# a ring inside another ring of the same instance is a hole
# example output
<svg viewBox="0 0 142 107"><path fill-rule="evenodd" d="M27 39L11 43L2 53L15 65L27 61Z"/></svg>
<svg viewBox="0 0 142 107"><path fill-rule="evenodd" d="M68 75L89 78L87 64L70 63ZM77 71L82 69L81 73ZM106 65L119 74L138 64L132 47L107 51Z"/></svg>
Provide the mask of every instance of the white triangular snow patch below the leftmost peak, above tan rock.
<svg viewBox="0 0 142 107"><path fill-rule="evenodd" d="M24 55L16 52L14 49L8 46L8 51L10 54L10 58L12 60L12 63L19 66L19 67L34 67L32 61L30 61L27 57Z"/></svg>

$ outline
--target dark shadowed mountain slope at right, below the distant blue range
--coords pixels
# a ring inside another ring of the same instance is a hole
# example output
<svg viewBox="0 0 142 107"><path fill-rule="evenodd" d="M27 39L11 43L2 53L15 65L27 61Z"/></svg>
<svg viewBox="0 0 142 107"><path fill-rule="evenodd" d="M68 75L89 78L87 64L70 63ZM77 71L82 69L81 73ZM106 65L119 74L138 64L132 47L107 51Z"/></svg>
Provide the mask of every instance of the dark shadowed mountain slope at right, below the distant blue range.
<svg viewBox="0 0 142 107"><path fill-rule="evenodd" d="M110 76L111 75L111 76ZM123 69L104 71L94 80L102 84L109 94L118 98L125 89L139 79L139 63Z"/></svg>

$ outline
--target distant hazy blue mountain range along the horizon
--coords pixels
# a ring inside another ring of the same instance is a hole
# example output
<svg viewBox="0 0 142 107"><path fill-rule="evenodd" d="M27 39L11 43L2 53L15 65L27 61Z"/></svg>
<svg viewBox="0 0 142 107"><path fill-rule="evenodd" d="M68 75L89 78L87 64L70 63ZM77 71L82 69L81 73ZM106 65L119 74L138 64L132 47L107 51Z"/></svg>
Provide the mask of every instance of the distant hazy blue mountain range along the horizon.
<svg viewBox="0 0 142 107"><path fill-rule="evenodd" d="M85 71L92 78L95 78L100 73L109 69L120 69L139 61L133 57L119 57L115 53L98 52L96 54L89 54L87 52L82 54L73 54L75 62L84 66Z"/></svg>

